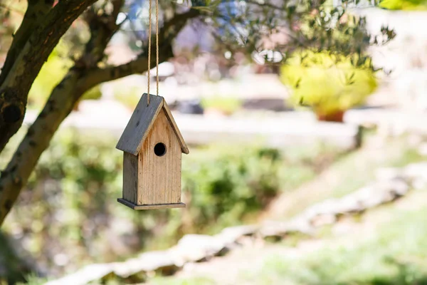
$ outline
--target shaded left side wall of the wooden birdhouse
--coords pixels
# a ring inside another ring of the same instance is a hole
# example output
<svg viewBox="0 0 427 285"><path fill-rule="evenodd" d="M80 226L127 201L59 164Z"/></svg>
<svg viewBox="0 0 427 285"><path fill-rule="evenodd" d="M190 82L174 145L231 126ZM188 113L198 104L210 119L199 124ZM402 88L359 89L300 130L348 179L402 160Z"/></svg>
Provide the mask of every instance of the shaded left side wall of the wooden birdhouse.
<svg viewBox="0 0 427 285"><path fill-rule="evenodd" d="M123 199L137 203L138 157L123 152Z"/></svg>

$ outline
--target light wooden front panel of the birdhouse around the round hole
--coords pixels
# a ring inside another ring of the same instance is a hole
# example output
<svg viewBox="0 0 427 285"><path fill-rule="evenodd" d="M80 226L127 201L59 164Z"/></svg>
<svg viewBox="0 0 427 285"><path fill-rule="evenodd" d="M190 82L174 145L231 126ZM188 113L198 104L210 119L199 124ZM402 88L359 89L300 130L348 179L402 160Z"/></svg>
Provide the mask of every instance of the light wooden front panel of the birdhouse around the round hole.
<svg viewBox="0 0 427 285"><path fill-rule="evenodd" d="M158 142L166 145L160 157L154 154ZM144 141L138 163L138 205L181 202L181 145L164 110Z"/></svg>

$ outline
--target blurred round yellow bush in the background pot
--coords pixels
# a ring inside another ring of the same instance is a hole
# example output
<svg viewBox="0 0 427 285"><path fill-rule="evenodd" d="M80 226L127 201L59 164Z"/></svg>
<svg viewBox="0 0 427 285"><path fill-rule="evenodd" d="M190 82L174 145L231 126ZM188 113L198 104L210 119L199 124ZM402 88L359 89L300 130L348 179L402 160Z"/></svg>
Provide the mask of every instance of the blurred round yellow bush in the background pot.
<svg viewBox="0 0 427 285"><path fill-rule="evenodd" d="M328 115L364 102L376 89L374 72L354 68L357 56L302 51L281 69L281 81L292 90L294 105L310 105L315 113Z"/></svg>

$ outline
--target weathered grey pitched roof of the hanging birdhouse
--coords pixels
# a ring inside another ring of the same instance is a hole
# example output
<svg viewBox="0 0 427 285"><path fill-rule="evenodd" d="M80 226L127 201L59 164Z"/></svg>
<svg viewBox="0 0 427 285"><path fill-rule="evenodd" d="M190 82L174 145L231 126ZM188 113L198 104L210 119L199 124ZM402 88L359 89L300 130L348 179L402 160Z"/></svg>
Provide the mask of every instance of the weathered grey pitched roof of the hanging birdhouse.
<svg viewBox="0 0 427 285"><path fill-rule="evenodd" d="M132 155L137 155L141 150L144 140L149 134L154 121L159 115L160 110L164 110L167 120L172 126L176 138L178 138L181 145L181 151L189 153L189 148L186 146L184 138L182 138L178 127L176 126L174 117L172 117L171 110L162 96L149 95L149 105L147 105L147 93L142 95L137 108L135 108L129 123L123 131L116 148Z"/></svg>

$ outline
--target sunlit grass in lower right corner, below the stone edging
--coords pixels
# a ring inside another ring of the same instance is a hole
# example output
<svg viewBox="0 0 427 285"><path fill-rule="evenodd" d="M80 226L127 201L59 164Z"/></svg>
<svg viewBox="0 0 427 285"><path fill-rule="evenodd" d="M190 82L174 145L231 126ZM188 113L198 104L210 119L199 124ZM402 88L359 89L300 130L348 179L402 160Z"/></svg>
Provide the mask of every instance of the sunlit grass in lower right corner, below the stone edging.
<svg viewBox="0 0 427 285"><path fill-rule="evenodd" d="M394 214L354 247L325 247L300 259L273 257L250 284L381 284L427 282L427 211Z"/></svg>

